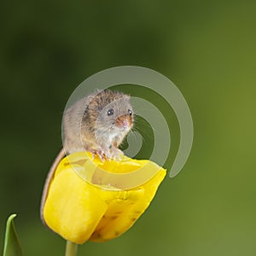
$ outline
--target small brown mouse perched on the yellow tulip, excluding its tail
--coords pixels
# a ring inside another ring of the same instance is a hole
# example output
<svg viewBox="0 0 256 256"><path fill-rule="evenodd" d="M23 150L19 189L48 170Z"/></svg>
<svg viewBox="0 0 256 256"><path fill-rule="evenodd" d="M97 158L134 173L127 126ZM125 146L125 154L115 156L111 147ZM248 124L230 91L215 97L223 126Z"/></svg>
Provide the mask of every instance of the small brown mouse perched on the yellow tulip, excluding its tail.
<svg viewBox="0 0 256 256"><path fill-rule="evenodd" d="M112 90L96 91L64 113L64 148L69 154L86 150L102 160L119 158L119 144L132 125L130 96Z"/></svg>

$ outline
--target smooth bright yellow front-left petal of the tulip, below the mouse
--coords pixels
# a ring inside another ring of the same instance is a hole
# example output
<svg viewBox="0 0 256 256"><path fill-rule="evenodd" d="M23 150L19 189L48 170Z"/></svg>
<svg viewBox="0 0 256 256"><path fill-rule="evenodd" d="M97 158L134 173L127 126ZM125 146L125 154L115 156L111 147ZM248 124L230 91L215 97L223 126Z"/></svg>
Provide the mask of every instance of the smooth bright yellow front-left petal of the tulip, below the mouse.
<svg viewBox="0 0 256 256"><path fill-rule="evenodd" d="M63 169L50 185L44 204L44 221L66 240L84 243L107 208L95 188L85 183L72 168Z"/></svg>

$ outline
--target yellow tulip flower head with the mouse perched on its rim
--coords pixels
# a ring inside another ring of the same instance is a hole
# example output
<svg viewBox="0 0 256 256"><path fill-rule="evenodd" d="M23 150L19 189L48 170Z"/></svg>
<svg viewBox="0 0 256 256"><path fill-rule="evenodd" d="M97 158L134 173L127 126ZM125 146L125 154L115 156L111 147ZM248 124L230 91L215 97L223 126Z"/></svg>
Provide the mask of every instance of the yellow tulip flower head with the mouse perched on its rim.
<svg viewBox="0 0 256 256"><path fill-rule="evenodd" d="M86 155L84 158L84 152L79 152L61 160L42 208L51 230L79 244L108 241L123 234L147 209L166 175L166 170L149 160L123 156L102 162ZM154 175L145 183L136 183L136 177L141 182L138 173L143 173L143 168Z"/></svg>

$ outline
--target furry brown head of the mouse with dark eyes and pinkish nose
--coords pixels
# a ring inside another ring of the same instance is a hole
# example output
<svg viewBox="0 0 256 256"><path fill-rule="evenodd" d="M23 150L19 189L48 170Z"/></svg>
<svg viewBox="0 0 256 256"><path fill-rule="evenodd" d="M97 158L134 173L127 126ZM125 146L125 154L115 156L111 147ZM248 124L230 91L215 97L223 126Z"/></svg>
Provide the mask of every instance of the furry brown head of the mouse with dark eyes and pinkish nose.
<svg viewBox="0 0 256 256"><path fill-rule="evenodd" d="M102 90L92 98L90 113L95 119L97 131L107 131L118 135L127 133L133 125L133 109L130 96L112 90Z"/></svg>

